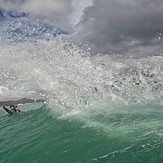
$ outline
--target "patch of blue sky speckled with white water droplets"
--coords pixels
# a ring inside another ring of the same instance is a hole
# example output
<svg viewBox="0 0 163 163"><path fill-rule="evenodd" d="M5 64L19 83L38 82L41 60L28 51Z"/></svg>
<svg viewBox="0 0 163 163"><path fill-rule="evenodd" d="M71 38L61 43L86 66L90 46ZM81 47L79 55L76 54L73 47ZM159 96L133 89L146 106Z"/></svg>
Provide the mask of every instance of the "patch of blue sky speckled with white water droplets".
<svg viewBox="0 0 163 163"><path fill-rule="evenodd" d="M31 21L28 13L0 10L0 38L3 42L24 42L48 39L66 31L47 23Z"/></svg>

